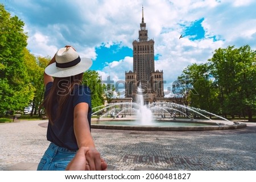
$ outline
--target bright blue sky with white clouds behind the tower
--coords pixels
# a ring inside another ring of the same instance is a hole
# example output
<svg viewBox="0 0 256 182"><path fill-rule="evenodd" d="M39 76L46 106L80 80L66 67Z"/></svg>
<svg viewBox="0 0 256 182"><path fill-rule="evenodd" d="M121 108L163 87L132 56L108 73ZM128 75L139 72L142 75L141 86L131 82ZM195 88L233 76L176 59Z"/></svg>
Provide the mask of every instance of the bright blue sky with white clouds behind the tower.
<svg viewBox="0 0 256 182"><path fill-rule="evenodd" d="M25 23L27 48L53 56L72 45L93 60L102 79L125 79L133 69L133 40L138 39L144 7L149 39L155 41L155 69L163 70L165 90L183 69L204 63L215 49L250 45L256 49L253 0L0 0ZM179 39L180 35L183 38Z"/></svg>

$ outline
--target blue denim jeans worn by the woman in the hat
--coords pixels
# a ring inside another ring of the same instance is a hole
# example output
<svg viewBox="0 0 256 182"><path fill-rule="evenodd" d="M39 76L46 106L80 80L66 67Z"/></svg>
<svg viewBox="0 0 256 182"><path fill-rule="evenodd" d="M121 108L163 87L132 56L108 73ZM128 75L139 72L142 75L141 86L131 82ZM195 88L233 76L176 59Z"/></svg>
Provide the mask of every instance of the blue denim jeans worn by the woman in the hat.
<svg viewBox="0 0 256 182"><path fill-rule="evenodd" d="M76 151L50 143L38 164L38 171L64 171L75 155Z"/></svg>

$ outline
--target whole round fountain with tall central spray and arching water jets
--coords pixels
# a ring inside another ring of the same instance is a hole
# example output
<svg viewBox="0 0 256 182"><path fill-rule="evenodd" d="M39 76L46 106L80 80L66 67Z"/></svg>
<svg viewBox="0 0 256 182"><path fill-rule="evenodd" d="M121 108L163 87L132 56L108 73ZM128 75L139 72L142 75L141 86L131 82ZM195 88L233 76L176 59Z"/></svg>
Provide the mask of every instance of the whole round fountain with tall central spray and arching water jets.
<svg viewBox="0 0 256 182"><path fill-rule="evenodd" d="M229 121L203 109L176 103L160 101L144 105L141 85L138 87L137 103L110 103L93 109L98 109L98 111L92 115L105 112L98 116L96 120L92 118L92 128L98 129L180 131L246 127L246 124ZM109 115L111 117L108 117ZM215 119L212 120L210 117Z"/></svg>

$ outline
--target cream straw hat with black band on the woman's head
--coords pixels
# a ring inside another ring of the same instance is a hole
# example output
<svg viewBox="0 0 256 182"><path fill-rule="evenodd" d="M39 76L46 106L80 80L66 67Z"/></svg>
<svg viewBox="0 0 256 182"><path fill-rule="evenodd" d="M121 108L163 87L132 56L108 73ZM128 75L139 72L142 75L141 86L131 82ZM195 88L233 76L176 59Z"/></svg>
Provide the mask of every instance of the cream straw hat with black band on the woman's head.
<svg viewBox="0 0 256 182"><path fill-rule="evenodd" d="M70 77L83 73L92 66L90 58L80 58L71 46L59 49L55 54L55 60L56 62L48 65L44 70L52 77Z"/></svg>

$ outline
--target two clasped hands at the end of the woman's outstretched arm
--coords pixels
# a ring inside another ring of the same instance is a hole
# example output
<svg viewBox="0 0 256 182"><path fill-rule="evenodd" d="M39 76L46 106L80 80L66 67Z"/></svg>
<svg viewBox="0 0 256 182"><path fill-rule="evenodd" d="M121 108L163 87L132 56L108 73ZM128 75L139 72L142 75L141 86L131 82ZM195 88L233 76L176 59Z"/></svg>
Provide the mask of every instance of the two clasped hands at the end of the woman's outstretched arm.
<svg viewBox="0 0 256 182"><path fill-rule="evenodd" d="M68 164L69 171L102 171L106 170L107 164L100 157L100 153L93 147L80 147L75 157Z"/></svg>

